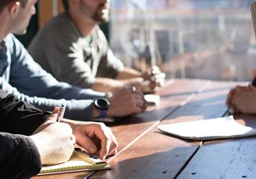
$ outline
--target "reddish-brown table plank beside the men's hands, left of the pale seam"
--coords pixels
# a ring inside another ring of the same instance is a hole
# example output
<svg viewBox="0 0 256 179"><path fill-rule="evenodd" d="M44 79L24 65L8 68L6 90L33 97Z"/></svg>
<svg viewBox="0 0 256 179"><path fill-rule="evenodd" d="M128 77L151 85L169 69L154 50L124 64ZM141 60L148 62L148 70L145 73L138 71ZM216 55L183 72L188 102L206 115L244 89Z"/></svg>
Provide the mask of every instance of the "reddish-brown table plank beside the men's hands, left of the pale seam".
<svg viewBox="0 0 256 179"><path fill-rule="evenodd" d="M206 82L206 80L174 80L161 89L159 107L152 106L140 115L126 117L123 121L110 126L118 140L118 151L171 112L180 108L182 102L186 101L191 94L196 93Z"/></svg>

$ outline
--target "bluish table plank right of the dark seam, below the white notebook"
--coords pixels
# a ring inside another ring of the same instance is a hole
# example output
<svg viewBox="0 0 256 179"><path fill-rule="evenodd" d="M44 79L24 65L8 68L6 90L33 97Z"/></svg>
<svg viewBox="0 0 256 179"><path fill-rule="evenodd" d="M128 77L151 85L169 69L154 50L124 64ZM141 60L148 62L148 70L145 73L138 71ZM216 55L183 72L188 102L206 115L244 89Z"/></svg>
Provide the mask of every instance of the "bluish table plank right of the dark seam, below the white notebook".
<svg viewBox="0 0 256 179"><path fill-rule="evenodd" d="M255 115L235 115L255 128ZM256 137L209 141L202 145L178 178L255 178Z"/></svg>

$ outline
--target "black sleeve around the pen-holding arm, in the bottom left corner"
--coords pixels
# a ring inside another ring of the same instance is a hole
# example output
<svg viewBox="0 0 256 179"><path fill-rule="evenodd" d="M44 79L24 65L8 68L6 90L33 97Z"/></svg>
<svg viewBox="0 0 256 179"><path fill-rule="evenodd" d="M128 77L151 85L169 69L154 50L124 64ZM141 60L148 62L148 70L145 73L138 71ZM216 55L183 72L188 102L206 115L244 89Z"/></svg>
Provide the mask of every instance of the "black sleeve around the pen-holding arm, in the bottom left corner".
<svg viewBox="0 0 256 179"><path fill-rule="evenodd" d="M30 178L41 170L39 151L28 136L0 132L1 178Z"/></svg>

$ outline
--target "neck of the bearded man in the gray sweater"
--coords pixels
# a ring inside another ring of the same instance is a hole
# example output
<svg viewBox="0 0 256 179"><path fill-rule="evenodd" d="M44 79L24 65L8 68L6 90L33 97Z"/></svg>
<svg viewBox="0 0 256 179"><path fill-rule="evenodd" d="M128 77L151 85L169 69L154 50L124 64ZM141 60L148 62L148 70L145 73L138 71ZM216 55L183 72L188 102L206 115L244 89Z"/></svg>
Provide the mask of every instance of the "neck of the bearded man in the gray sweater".
<svg viewBox="0 0 256 179"><path fill-rule="evenodd" d="M83 18L81 18L80 14L72 12L67 13L70 15L70 18L74 21L76 27L83 36L89 36L89 34L92 33L92 29L94 29L95 25L97 25L95 21L89 19L88 17L83 16Z"/></svg>

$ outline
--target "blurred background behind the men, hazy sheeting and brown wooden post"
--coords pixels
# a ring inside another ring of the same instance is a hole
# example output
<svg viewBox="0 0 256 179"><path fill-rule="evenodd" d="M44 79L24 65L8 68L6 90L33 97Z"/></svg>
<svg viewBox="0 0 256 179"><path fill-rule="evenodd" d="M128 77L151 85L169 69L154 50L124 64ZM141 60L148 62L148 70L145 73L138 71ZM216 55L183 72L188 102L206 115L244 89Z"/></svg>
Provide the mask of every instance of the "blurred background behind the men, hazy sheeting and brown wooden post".
<svg viewBox="0 0 256 179"><path fill-rule="evenodd" d="M111 0L101 25L114 54L128 67L158 65L168 78L248 81L256 69L250 16L253 0ZM60 0L39 0L25 47L63 11Z"/></svg>

